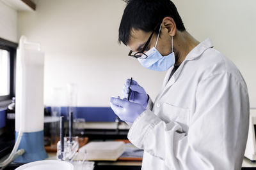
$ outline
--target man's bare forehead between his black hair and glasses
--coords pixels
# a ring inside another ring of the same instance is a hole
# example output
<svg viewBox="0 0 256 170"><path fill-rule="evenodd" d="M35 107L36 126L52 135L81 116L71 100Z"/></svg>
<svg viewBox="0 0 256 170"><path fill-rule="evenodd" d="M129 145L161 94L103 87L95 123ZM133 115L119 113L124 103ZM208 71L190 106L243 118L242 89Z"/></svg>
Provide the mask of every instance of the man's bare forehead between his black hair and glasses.
<svg viewBox="0 0 256 170"><path fill-rule="evenodd" d="M139 46L147 42L149 36L150 32L145 32L141 29L132 29L128 46L131 48L132 51L136 51Z"/></svg>

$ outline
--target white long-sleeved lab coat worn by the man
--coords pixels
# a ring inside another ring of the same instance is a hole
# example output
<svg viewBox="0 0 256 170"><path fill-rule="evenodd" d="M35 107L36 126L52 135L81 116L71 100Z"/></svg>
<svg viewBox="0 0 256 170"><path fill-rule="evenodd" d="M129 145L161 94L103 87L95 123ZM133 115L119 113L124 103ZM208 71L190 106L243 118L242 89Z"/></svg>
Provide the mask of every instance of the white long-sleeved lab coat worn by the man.
<svg viewBox="0 0 256 170"><path fill-rule="evenodd" d="M141 169L240 170L249 99L237 67L206 39L168 81L172 69L129 130L129 140L144 149Z"/></svg>

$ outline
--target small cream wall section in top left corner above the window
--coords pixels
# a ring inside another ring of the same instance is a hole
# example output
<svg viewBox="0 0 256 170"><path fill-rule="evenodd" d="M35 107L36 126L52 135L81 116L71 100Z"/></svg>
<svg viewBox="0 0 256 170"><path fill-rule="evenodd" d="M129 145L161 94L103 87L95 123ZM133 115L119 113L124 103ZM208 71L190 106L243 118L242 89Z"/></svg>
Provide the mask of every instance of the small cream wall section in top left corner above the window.
<svg viewBox="0 0 256 170"><path fill-rule="evenodd" d="M17 11L0 1L0 38L17 43Z"/></svg>

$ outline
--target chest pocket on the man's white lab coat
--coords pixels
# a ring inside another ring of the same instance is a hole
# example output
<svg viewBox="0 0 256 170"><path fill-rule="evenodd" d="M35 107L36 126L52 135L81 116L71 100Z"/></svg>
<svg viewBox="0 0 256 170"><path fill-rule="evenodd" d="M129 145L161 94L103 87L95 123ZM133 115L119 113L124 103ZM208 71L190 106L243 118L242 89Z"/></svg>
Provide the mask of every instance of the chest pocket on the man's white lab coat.
<svg viewBox="0 0 256 170"><path fill-rule="evenodd" d="M169 103L163 103L163 111L161 115L167 122L177 122L182 126L182 129L187 132L190 120L190 110L173 106Z"/></svg>

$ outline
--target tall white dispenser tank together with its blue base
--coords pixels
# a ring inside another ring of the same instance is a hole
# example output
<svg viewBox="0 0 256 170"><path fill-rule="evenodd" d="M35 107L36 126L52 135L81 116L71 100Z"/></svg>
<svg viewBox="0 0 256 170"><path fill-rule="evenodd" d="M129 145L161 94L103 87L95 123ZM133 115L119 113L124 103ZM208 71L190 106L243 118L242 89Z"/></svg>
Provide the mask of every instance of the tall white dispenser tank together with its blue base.
<svg viewBox="0 0 256 170"><path fill-rule="evenodd" d="M44 52L40 45L22 36L17 50L16 137L25 153L15 162L33 162L47 157L44 149Z"/></svg>

